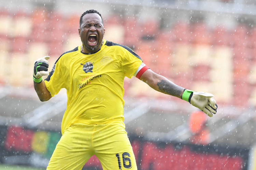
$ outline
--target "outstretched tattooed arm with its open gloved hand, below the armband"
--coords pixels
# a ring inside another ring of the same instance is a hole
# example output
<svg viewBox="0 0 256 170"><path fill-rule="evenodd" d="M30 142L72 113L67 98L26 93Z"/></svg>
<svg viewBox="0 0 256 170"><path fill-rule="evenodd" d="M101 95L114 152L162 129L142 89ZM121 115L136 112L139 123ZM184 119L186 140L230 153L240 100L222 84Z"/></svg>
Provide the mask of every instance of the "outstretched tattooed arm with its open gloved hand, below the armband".
<svg viewBox="0 0 256 170"><path fill-rule="evenodd" d="M216 101L212 98L213 95L204 92L194 92L192 90L184 89L177 86L167 78L160 76L150 69L147 69L141 76L140 80L147 83L151 88L169 94L175 97L179 97L191 105L199 108L209 117L212 117L216 113L217 105Z"/></svg>

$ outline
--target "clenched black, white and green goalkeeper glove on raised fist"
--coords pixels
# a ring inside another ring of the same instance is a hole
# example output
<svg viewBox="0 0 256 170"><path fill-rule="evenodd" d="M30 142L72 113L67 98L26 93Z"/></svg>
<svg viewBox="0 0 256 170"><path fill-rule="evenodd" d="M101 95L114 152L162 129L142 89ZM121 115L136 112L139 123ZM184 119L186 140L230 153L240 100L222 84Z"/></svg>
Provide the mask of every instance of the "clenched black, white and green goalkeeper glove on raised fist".
<svg viewBox="0 0 256 170"><path fill-rule="evenodd" d="M49 75L48 67L49 62L47 61L50 57L44 56L34 62L34 71L33 71L33 80L36 83L40 83L42 81L42 76Z"/></svg>

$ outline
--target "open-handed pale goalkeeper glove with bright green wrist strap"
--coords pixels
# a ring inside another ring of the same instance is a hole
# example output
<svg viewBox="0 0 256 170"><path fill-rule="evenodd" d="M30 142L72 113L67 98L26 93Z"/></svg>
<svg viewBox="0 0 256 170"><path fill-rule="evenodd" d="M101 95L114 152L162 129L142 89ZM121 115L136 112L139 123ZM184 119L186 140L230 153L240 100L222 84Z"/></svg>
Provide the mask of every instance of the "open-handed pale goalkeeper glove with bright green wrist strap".
<svg viewBox="0 0 256 170"><path fill-rule="evenodd" d="M184 90L182 95L183 100L199 108L209 117L213 117L213 114L217 112L218 108L216 101L212 97L213 94L211 93L194 92L187 89Z"/></svg>

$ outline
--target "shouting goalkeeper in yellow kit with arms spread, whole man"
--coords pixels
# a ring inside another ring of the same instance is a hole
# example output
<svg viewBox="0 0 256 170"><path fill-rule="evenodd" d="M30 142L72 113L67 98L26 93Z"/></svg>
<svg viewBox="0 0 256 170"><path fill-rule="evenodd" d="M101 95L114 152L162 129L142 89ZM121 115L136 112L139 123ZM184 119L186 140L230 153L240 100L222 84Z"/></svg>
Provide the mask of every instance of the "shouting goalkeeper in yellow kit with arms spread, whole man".
<svg viewBox="0 0 256 170"><path fill-rule="evenodd" d="M159 92L182 98L210 117L216 113L212 94L177 86L148 69L130 48L103 40L105 29L97 11L82 14L78 32L82 45L63 53L50 73L48 56L34 65L34 89L41 101L61 88L68 96L62 137L47 170L79 170L93 155L104 170L137 169L123 123L125 76L136 76ZM43 75L48 75L44 81Z"/></svg>

